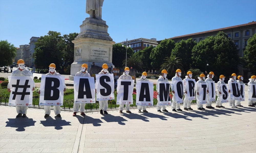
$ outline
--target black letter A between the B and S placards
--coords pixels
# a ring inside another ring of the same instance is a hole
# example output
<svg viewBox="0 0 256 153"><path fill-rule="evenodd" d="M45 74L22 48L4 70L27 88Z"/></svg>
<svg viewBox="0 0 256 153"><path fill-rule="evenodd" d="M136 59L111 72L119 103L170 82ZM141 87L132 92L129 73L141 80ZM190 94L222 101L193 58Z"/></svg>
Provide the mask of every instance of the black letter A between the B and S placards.
<svg viewBox="0 0 256 153"><path fill-rule="evenodd" d="M83 91L84 87L85 91ZM89 79L80 78L78 87L78 99L83 99L84 95L86 95L86 98L92 98L91 87Z"/></svg>

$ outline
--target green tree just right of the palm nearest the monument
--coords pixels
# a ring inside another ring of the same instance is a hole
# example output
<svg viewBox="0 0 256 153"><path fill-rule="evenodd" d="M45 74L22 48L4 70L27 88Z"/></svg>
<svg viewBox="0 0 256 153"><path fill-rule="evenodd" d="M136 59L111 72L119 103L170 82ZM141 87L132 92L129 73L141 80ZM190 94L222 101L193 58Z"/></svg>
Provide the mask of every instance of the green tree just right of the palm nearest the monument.
<svg viewBox="0 0 256 153"><path fill-rule="evenodd" d="M153 48L154 48L153 46L146 47L143 50L140 50L139 52L135 53L135 55L140 57L141 62L143 63L143 65L142 65L143 71L144 70L148 71L148 70L152 69L150 54L151 54Z"/></svg>

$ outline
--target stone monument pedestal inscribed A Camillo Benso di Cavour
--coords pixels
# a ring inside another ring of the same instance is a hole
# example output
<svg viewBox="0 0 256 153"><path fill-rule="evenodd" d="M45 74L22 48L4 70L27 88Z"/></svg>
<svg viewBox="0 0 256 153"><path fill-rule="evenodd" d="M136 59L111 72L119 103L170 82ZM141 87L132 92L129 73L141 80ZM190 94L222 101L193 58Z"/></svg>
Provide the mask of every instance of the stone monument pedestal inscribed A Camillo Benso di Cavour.
<svg viewBox="0 0 256 153"><path fill-rule="evenodd" d="M115 42L108 34L106 21L86 18L80 25L80 33L72 41L74 43L74 62L71 64L69 80L81 70L83 63L88 64L90 73L91 65L102 66L103 63L112 64L112 47Z"/></svg>

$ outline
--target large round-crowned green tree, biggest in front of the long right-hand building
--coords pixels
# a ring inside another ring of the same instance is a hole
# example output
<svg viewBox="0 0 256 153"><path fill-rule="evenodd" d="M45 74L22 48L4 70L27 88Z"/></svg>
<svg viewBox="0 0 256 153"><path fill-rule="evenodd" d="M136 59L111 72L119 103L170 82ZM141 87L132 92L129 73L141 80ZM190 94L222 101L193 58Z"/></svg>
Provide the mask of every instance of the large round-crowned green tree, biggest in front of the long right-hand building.
<svg viewBox="0 0 256 153"><path fill-rule="evenodd" d="M207 72L213 71L216 75L230 76L238 72L239 56L237 48L230 37L224 32L216 36L209 36L197 43L192 50L193 67Z"/></svg>

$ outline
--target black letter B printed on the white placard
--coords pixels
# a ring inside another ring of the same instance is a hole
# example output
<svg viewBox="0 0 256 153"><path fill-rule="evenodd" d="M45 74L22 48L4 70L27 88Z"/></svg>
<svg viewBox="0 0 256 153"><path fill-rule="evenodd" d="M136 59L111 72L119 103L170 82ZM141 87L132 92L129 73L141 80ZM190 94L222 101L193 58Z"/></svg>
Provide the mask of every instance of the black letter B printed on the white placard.
<svg viewBox="0 0 256 153"><path fill-rule="evenodd" d="M53 86L51 86L53 82ZM60 90L57 89L60 87L60 80L57 78L45 78L45 96L44 100L58 100L60 97ZM51 91L53 91L53 94L51 96Z"/></svg>

